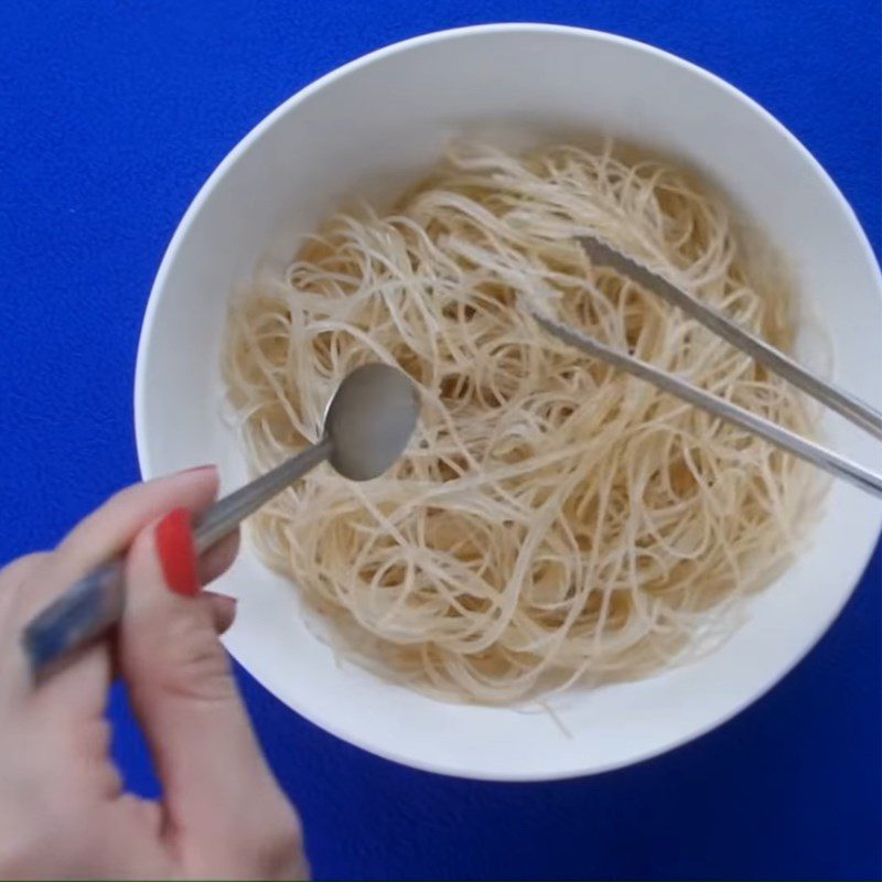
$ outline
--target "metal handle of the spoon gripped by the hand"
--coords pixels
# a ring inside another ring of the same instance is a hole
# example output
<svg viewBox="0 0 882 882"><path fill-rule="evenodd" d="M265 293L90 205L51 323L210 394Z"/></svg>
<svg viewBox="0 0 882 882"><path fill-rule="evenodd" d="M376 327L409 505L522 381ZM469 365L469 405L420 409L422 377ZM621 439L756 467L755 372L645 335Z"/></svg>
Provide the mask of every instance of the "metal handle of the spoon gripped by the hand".
<svg viewBox="0 0 882 882"><path fill-rule="evenodd" d="M248 515L331 455L323 439L267 474L216 502L196 523L193 540L201 555L228 536ZM122 615L126 598L122 558L114 558L74 582L26 625L22 644L39 681L80 647L105 634Z"/></svg>

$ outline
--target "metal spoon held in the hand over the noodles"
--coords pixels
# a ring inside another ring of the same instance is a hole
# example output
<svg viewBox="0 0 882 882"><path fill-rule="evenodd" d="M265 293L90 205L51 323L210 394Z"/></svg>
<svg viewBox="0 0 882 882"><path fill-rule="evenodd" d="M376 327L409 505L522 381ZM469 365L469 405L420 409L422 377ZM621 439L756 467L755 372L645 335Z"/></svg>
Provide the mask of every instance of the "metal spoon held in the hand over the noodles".
<svg viewBox="0 0 882 882"><path fill-rule="evenodd" d="M248 515L325 460L351 481L383 474L404 452L418 416L419 395L400 370L381 364L353 370L331 399L322 440L216 502L194 529L196 552L216 545ZM123 602L121 558L71 585L22 633L34 678L50 674L118 622Z"/></svg>

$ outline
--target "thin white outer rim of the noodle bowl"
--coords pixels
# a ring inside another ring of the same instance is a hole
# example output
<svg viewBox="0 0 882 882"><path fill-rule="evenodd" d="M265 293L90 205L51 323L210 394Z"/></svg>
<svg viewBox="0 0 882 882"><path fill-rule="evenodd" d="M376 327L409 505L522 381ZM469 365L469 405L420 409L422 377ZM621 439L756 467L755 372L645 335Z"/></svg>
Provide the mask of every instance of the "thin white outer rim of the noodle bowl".
<svg viewBox="0 0 882 882"><path fill-rule="evenodd" d="M868 257L868 262L869 266L872 268L872 273L874 277L875 293L880 297L880 299L882 299L882 270L880 269L879 261L875 259L873 249L870 245L867 234L864 233L854 213L854 209L851 207L851 204L848 202L842 192L839 190L836 182L830 178L830 175L827 173L827 171L824 169L820 162L818 162L818 160L815 159L815 157L808 150L808 148L806 148L802 143L802 141L799 141L799 139L796 138L796 136L793 135L793 132L790 132L789 129L786 128L786 126L784 126L784 123L782 123L776 117L774 117L768 110L766 110L761 104L759 104L759 101L751 98L750 96L741 92L741 89L736 88L731 83L727 82L717 74L713 74L710 71L707 71L703 67L692 62L681 58L680 56L675 55L671 52L658 49L657 46L644 43L639 40L622 36L620 34L613 34L606 31L599 31L589 28L579 28L576 25L524 21L524 22L498 22L488 24L474 24L461 28L451 28L440 31L432 31L429 33L419 34L416 36L408 37L406 40L400 40L395 43L387 44L372 52L368 52L364 55L361 55L349 62L340 65L338 67L333 68L326 74L323 74L318 79L314 79L313 82L309 83L308 85L295 92L284 101L282 101L276 109L271 110L259 122L257 122L250 129L250 131L248 131L245 135L245 137L243 137L238 141L238 143L236 143L235 147L233 147L233 149L224 157L224 159L219 162L219 164L215 168L215 170L212 172L212 174L208 176L205 183L200 187L196 195L193 197L186 212L184 213L183 217L178 224L178 227L175 228L175 232L163 254L162 261L160 263L159 270L157 271L155 279L150 290L150 295L144 310L144 316L141 324L141 330L138 341L137 356L136 356L137 361L135 369L135 385L133 385L133 416L135 416L135 440L136 440L136 448L138 455L138 465L143 480L154 476L151 473L150 469L150 461L153 459L153 455L151 451L151 442L149 433L146 426L144 407L146 407L146 384L148 381L147 368L146 368L146 364L148 361L147 353L152 340L153 323L159 301L162 298L162 292L163 289L165 288L166 280L171 271L171 267L174 263L178 251L181 247L182 241L186 236L190 226L192 225L194 218L202 211L203 205L214 191L215 186L226 175L228 169L235 162L237 162L238 159L248 150L248 148L260 137L262 137L262 135L279 118L291 112L298 105L300 105L302 101L304 101L313 94L323 89L325 86L336 82L337 79L348 76L359 71L361 68L373 64L374 62L380 61L387 56L391 56L400 52L407 52L423 45L439 43L442 41L459 40L461 37L470 37L470 36L491 35L501 33L517 33L517 32L526 32L526 33L533 32L542 34L553 34L553 33L568 34L571 36L587 39L589 41L594 40L594 41L611 43L633 51L646 53L659 58L663 62L677 66L691 75L704 79L710 85L728 93L731 97L735 98L736 100L745 105L751 111L756 114L766 125L775 129L779 136L783 136L785 140L789 143L790 148L802 154L803 159L809 163L815 173L818 175L819 180L824 182L826 189L829 191L829 193L833 196L835 201L838 203L838 207L842 212L843 217L847 219L852 235L856 237L857 241L860 244L860 247L863 249L865 256ZM875 526L876 534L880 533L880 529L882 529L882 514L880 514L876 517L876 526ZM876 540L876 544L878 541L879 540ZM531 772L528 770L512 770L506 772L478 773L473 768L454 767L452 764L435 763L432 761L422 761L415 759L413 756L410 755L406 756L404 754L397 753L395 750L387 749L384 744L374 743L374 741L369 738L363 739L357 732L353 733L349 731L345 732L342 731L341 728L337 727L334 722L326 720L323 713L314 713L311 709L302 707L292 709L295 710L295 712L302 716L303 718L308 719L310 722L323 729L325 732L334 735L335 738L341 739L346 743L353 744L362 750L365 750L385 760L389 760L412 768L419 768L421 771L431 772L434 774L462 777L462 778L481 779L481 781L526 783L526 782L569 779L573 777L602 774L605 772L614 771L616 768L627 767L631 765L635 765L637 763L643 763L647 760L654 759L662 754L668 753L669 751L677 750L678 747L681 747L685 744L688 744L689 742L692 742L708 734L714 729L732 720L734 717L740 714L743 710L745 710L751 704L755 703L757 700L767 695L774 687L776 687L818 645L822 636L839 619L839 616L842 613L842 610L845 609L846 604L851 600L854 590L860 583L874 550L875 546L871 546L863 556L863 559L851 561L851 569L856 574L850 580L851 581L850 590L843 595L842 601L840 602L833 614L827 621L818 624L818 627L816 628L816 633L813 636L813 638L808 641L805 644L805 646L802 647L800 652L795 654L794 657L790 659L790 662L786 666L784 666L779 671L777 671L774 677L766 680L763 684L763 686L756 689L749 698L729 708L725 713L717 717L713 721L708 722L703 725L699 725L685 734L669 739L668 741L653 745L652 747L637 751L628 759L622 759L615 762L610 762L600 765L591 765L590 763L585 763L585 765L581 767L573 767L567 771L560 771L555 773ZM272 676L265 677L262 675L258 677L256 674L251 671L249 665L246 662L236 657L233 650L230 652L236 658L236 660L251 676L254 676L254 678L263 688L266 688L269 692L271 692L277 699L282 701L282 703L284 703L288 707L291 707L290 703L284 698L282 698L280 690L277 688L275 677Z"/></svg>

